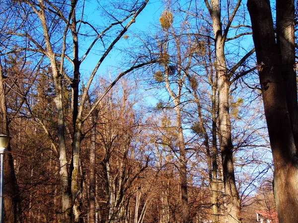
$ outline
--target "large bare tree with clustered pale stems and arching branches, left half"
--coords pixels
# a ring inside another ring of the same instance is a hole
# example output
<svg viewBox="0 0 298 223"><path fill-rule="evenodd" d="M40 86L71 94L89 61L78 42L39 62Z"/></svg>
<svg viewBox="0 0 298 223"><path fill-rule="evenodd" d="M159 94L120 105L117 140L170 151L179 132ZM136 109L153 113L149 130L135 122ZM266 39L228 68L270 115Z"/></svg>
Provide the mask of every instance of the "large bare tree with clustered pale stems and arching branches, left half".
<svg viewBox="0 0 298 223"><path fill-rule="evenodd" d="M100 33L98 32L91 24L86 21L80 20L78 21L76 16L76 10L78 10L78 4L80 2L73 0L71 4L68 4L66 1L60 3L54 3L47 0L40 1L20 1L19 2L19 15L22 18L27 19L26 23L30 23L31 19L35 19L35 24L39 22L42 29L39 29L40 34L42 34L43 38L35 35L34 29L27 30L26 28L17 32L11 33L11 35L18 36L20 38L25 38L29 40L29 48L24 48L23 50L36 52L46 56L48 59L52 77L54 80L55 86L55 104L57 108L57 116L58 116L58 129L57 135L59 138L59 160L60 160L60 176L61 176L61 185L62 185L62 210L64 217L61 221L67 222L70 221L70 218L74 219L75 222L79 221L80 218L80 203L79 203L79 195L81 194L80 186L79 186L79 154L80 154L80 142L82 139L82 125L83 122L90 116L92 111L96 108L102 98L99 98L96 103L94 103L93 108L90 108L90 111L86 114L83 114L84 103L87 100L87 92L91 86L92 80L99 68L102 64L102 61L105 57L111 52L112 48L115 44L120 40L120 38L124 35L124 33L128 30L128 28L135 22L136 17L140 14L140 12L144 9L148 1L138 2L136 4L131 5L132 8L123 8L122 11L125 12L123 18L116 19L112 14L109 14L111 18L115 20L114 23L111 23L108 27L103 29ZM17 5L17 4L15 4ZM84 7L83 3L81 5ZM130 7L127 5L127 7ZM22 11L23 10L23 11ZM27 14L27 11L30 11L31 14ZM53 15L53 17L51 17ZM118 15L117 15L118 16ZM79 24L78 24L79 22ZM78 46L79 46L79 38L78 33L81 27L81 24L87 24L91 27L92 32L94 32L95 38L91 42L89 48L84 52L81 58L78 57ZM115 34L115 38L113 40L109 40L107 43L107 48L105 48L102 56L100 56L96 66L94 67L90 78L83 90L81 101L78 102L78 91L79 91L79 81L80 81L80 64L83 60L88 56L93 46L100 39L104 37L106 32L112 30L114 27L119 26L119 33ZM69 36L68 31L71 31L71 41L73 42L73 56L69 55ZM62 33L55 36L54 33ZM62 48L57 47L56 44L61 44ZM20 49L22 50L22 49ZM65 59L68 59L70 64L73 66L73 76L70 77L65 72L65 64L67 63ZM138 68L143 66L144 64L135 64L125 72L122 72L118 78L113 82L108 89L110 89L123 75L133 70L134 68ZM66 142L66 116L65 116L65 108L64 108L64 88L65 88L65 79L69 82L72 88L72 153L71 153L71 162L69 163L68 156L68 148ZM108 90L107 90L108 91ZM105 94L103 94L104 96ZM48 131L45 129L45 131ZM70 168L68 169L68 165ZM71 179L71 180L69 180Z"/></svg>

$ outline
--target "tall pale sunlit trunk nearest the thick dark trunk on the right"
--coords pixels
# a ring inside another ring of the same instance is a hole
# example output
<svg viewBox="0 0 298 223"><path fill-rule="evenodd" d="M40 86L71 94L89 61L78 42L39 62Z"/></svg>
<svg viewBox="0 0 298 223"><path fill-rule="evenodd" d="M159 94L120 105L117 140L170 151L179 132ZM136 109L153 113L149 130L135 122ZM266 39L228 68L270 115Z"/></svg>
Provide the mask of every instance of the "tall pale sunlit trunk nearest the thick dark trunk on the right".
<svg viewBox="0 0 298 223"><path fill-rule="evenodd" d="M205 0L206 2L206 0ZM207 4L207 3L206 3ZM209 4L208 4L209 6ZM208 7L207 6L207 7ZM222 153L223 173L224 173L224 192L227 207L226 222L240 223L240 199L236 187L234 164L233 164L233 145L231 139L231 124L229 115L229 77L224 56L224 43L226 32L223 35L221 23L221 9L219 0L211 0L209 6L212 18L212 26L215 37L216 53L216 72L218 75L219 91L219 134L220 149Z"/></svg>

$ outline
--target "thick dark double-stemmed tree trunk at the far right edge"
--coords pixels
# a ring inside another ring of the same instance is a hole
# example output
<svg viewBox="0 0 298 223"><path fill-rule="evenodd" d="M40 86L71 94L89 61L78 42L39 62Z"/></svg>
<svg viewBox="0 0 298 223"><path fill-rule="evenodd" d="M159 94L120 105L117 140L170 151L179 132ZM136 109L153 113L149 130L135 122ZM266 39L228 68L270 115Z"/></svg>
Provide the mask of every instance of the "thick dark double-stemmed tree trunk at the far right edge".
<svg viewBox="0 0 298 223"><path fill-rule="evenodd" d="M286 4L289 2L287 1ZM294 6L294 1L291 2L289 8ZM281 7L280 4L277 6ZM291 122L293 119L289 112L291 109L288 109L287 105L287 102L291 101L290 98L295 100L297 96L289 95L291 90L288 87L284 89L289 84L284 81L288 82L291 77L288 79L283 76L285 60L278 56L278 48L282 46L281 40L287 39L287 37L279 37L280 45L277 46L269 0L248 0L247 7L251 18L264 110L273 155L274 195L278 218L280 223L298 223L296 214L298 210L297 148L294 140L293 122ZM279 13L277 15L280 16ZM283 18L287 19L282 16L277 20ZM279 21L279 23L283 22ZM279 31L278 35L283 36L286 33ZM281 52L287 49L286 46L283 48ZM297 92L292 92L292 94L297 95ZM297 99L293 103L297 104Z"/></svg>

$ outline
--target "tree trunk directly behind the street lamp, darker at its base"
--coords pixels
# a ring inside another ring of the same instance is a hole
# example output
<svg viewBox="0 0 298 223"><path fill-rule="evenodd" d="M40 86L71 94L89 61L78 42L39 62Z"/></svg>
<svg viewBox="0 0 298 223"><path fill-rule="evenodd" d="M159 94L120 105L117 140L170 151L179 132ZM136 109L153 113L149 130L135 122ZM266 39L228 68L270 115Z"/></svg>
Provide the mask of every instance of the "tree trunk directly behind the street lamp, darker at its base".
<svg viewBox="0 0 298 223"><path fill-rule="evenodd" d="M2 64L0 61L0 134L9 135ZM21 199L17 185L10 144L4 153L4 222L21 222Z"/></svg>

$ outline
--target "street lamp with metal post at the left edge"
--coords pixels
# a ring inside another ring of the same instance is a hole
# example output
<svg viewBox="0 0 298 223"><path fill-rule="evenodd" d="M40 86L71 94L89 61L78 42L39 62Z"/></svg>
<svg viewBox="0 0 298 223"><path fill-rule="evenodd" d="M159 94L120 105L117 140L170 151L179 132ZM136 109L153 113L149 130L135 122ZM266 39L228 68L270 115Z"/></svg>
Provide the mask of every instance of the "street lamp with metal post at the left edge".
<svg viewBox="0 0 298 223"><path fill-rule="evenodd" d="M0 155L1 155L1 177L0 177L0 223L3 223L3 185L4 185L4 152L8 146L10 137L0 135Z"/></svg>

